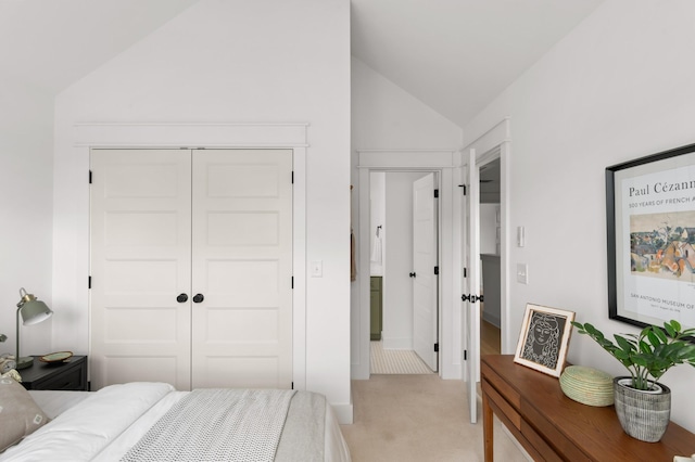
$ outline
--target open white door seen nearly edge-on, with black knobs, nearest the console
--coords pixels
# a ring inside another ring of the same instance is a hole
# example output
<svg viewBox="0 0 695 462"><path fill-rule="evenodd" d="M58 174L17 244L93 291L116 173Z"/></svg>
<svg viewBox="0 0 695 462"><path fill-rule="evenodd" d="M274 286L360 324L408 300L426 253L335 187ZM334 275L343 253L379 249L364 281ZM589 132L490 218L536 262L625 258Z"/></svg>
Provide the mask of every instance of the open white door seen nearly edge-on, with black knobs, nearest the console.
<svg viewBox="0 0 695 462"><path fill-rule="evenodd" d="M476 152L470 150L467 165L465 261L467 278L464 279L466 293L463 301L464 333L466 334L466 381L470 423L478 421L477 383L480 374L480 183L476 165Z"/></svg>

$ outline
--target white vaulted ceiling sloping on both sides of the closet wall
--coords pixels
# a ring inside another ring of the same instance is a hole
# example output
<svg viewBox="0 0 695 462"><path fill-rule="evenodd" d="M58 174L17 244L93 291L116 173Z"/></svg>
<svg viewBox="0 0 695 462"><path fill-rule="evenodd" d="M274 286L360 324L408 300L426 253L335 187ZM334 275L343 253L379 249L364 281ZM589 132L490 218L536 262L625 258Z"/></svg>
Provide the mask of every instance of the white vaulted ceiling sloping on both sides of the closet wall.
<svg viewBox="0 0 695 462"><path fill-rule="evenodd" d="M0 0L0 78L58 93L197 1ZM464 127L602 1L352 0L352 52Z"/></svg>

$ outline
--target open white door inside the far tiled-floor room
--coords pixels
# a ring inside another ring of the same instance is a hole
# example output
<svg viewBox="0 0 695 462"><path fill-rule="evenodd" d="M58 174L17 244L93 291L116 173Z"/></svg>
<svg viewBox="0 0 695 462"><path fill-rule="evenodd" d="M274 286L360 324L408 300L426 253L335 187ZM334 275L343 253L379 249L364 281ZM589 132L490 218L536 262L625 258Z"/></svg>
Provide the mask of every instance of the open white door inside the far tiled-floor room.
<svg viewBox="0 0 695 462"><path fill-rule="evenodd" d="M413 183L413 345L432 370L438 369L437 202L434 174Z"/></svg>

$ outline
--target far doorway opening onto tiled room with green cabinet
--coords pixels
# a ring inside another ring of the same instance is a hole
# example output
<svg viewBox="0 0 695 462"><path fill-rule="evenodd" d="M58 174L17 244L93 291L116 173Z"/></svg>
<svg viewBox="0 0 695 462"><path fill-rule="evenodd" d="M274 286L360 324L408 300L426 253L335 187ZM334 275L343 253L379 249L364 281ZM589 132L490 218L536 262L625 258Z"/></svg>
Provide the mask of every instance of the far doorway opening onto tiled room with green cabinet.
<svg viewBox="0 0 695 462"><path fill-rule="evenodd" d="M439 201L432 171L369 175L370 373L439 370Z"/></svg>

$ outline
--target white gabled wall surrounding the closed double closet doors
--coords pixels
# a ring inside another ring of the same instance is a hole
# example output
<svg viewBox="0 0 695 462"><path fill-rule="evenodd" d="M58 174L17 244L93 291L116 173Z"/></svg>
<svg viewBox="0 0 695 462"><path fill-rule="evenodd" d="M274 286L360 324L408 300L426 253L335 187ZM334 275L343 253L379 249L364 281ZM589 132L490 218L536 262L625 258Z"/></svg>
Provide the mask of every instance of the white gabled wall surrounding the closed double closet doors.
<svg viewBox="0 0 695 462"><path fill-rule="evenodd" d="M88 158L78 121L305 121L306 388L342 421L350 396L350 4L203 0L56 99L56 346L88 349ZM304 256L298 256L302 258Z"/></svg>

